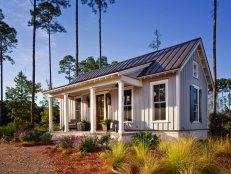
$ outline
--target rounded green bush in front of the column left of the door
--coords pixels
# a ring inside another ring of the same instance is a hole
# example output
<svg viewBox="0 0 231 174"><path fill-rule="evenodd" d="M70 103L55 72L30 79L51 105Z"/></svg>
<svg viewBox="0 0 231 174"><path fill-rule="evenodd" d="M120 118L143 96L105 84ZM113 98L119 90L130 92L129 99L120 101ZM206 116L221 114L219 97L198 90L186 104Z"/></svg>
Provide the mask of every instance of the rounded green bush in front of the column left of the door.
<svg viewBox="0 0 231 174"><path fill-rule="evenodd" d="M78 149L81 151L85 151L85 152L94 152L96 151L98 148L98 138L97 136L95 137L85 137L83 138L79 145L78 145Z"/></svg>

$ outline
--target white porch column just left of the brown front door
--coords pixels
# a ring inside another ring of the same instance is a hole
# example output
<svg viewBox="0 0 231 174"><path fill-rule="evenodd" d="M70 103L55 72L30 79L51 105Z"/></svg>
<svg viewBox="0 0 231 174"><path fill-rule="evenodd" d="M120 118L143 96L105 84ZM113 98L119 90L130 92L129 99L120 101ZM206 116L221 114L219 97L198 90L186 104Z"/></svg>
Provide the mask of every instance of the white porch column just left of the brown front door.
<svg viewBox="0 0 231 174"><path fill-rule="evenodd" d="M95 88L90 89L90 120L91 120L91 133L96 132L96 98Z"/></svg>

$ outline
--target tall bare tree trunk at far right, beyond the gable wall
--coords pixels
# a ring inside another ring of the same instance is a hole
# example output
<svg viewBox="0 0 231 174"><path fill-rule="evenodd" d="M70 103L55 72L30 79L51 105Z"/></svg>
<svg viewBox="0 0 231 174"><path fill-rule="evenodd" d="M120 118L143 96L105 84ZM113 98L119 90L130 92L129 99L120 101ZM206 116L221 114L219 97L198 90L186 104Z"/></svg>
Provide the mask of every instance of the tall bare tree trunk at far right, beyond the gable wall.
<svg viewBox="0 0 231 174"><path fill-rule="evenodd" d="M217 112L217 60L216 60L216 31L217 30L217 0L214 0L213 14L213 113Z"/></svg>

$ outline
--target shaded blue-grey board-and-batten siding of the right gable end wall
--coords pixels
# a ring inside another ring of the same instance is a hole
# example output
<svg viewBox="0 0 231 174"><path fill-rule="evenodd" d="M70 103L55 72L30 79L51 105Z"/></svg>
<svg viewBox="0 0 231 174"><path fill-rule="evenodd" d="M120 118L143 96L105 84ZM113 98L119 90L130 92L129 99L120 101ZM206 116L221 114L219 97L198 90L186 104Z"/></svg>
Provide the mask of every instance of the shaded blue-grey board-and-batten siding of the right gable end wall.
<svg viewBox="0 0 231 174"><path fill-rule="evenodd" d="M193 77L193 61L198 63L198 79ZM190 122L190 85L198 86L202 91L201 123ZM197 52L194 52L180 72L180 129L207 129L208 123L208 85L199 62Z"/></svg>

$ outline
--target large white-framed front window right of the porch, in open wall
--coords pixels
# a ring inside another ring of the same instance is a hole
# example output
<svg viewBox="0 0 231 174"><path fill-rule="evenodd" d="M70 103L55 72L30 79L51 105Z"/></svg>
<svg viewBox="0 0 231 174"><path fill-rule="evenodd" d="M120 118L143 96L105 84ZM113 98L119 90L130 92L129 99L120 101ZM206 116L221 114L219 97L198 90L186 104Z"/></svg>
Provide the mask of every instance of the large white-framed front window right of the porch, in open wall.
<svg viewBox="0 0 231 174"><path fill-rule="evenodd" d="M152 121L167 121L167 80L151 83Z"/></svg>

